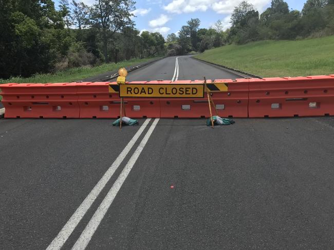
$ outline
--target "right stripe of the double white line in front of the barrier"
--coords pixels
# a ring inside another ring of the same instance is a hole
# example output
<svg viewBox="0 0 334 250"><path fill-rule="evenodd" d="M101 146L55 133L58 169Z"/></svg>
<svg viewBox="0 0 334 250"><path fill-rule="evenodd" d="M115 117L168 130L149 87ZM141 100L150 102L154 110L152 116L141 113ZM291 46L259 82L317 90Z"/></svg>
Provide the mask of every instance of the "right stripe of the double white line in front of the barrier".
<svg viewBox="0 0 334 250"><path fill-rule="evenodd" d="M114 198L116 197L118 191L120 190L122 184L124 183L126 177L130 173L131 169L133 168L134 164L136 163L140 153L145 147L146 142L149 140L153 130L155 129L159 118L156 118L152 123L149 131L145 134L144 138L138 145L135 153L131 156L129 161L127 162L125 168L123 169L122 173L119 175L117 180L115 181L112 188L109 190L108 194L98 207L97 211L91 217L90 221L88 222L87 226L85 227L84 231L80 235L77 242L73 245L72 250L83 250L88 245L91 237L94 235L95 231L97 230L100 222L102 221L103 217L105 216L107 210L109 209L110 205L113 203Z"/></svg>

